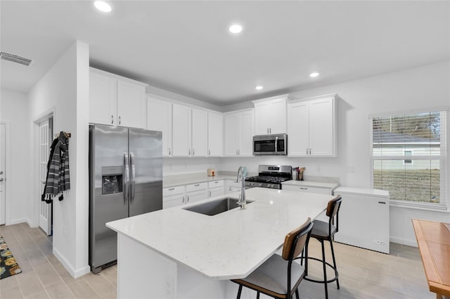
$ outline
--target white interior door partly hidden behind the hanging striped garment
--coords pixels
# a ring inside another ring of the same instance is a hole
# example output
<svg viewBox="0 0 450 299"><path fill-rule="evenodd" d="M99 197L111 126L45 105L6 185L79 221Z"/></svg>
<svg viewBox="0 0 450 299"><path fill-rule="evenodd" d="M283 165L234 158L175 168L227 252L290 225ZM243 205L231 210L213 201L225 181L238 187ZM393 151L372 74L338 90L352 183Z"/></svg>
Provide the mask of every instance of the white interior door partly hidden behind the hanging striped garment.
<svg viewBox="0 0 450 299"><path fill-rule="evenodd" d="M51 119L46 119L39 124L39 227L41 227L47 235L51 235L51 205L41 201L41 194L44 192L47 162L49 161L50 146L53 130L51 130Z"/></svg>

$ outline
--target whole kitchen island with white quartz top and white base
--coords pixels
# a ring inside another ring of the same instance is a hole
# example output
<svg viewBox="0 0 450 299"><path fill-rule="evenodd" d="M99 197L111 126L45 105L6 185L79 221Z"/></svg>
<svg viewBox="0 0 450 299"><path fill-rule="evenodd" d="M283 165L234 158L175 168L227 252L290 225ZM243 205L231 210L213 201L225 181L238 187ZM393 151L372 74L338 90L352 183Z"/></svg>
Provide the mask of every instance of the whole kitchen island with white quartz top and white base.
<svg viewBox="0 0 450 299"><path fill-rule="evenodd" d="M184 208L224 196L108 222L118 234L118 298L235 298L229 279L247 277L333 198L265 188L246 196L254 202L245 210L214 216Z"/></svg>

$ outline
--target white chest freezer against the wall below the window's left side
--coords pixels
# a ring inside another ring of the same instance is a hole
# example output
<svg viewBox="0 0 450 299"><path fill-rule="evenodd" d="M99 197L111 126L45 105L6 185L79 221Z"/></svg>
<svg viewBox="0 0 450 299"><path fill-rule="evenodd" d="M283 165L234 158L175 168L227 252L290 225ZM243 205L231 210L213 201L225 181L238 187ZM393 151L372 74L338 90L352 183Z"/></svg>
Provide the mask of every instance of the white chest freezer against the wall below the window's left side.
<svg viewBox="0 0 450 299"><path fill-rule="evenodd" d="M342 204L335 241L389 254L389 192L338 187Z"/></svg>

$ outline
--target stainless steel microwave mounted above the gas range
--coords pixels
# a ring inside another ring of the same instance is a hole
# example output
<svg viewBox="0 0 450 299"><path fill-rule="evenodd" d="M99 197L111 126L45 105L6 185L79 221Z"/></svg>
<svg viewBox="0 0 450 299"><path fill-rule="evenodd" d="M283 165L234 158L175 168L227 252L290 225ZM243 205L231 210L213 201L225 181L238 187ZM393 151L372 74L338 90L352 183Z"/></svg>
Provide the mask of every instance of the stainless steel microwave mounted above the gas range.
<svg viewBox="0 0 450 299"><path fill-rule="evenodd" d="M253 136L253 154L286 155L288 154L288 135L256 135Z"/></svg>

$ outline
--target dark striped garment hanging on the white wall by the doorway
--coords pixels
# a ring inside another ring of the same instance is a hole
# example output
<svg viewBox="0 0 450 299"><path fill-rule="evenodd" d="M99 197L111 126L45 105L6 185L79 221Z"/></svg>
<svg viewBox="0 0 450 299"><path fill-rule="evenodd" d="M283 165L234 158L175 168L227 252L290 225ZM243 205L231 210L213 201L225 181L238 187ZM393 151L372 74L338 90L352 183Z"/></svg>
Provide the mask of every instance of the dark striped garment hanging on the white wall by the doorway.
<svg viewBox="0 0 450 299"><path fill-rule="evenodd" d="M50 204L56 197L61 201L70 190L69 138L63 131L50 147L47 178L41 200Z"/></svg>

